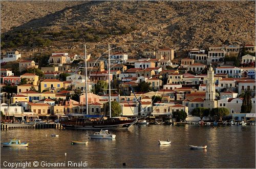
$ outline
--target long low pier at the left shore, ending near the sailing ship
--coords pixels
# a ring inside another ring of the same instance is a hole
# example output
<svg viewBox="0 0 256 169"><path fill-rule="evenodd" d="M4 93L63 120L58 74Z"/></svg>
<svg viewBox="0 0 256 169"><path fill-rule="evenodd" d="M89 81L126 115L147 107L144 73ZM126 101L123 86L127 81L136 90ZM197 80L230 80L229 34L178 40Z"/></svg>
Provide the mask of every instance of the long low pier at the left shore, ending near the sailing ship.
<svg viewBox="0 0 256 169"><path fill-rule="evenodd" d="M2 123L1 130L8 130L8 129L41 129L41 128L56 128L62 129L62 125L59 123L43 123L43 124L22 124L22 123Z"/></svg>

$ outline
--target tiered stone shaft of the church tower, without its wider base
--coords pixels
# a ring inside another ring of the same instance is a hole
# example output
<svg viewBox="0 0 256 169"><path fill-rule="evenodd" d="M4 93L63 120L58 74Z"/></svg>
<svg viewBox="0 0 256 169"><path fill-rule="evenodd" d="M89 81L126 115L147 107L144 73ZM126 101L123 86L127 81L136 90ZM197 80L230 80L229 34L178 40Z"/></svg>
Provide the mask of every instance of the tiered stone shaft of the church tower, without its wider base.
<svg viewBox="0 0 256 169"><path fill-rule="evenodd" d="M211 64L207 71L207 84L206 84L206 93L205 93L206 100L215 100L216 93L215 93L215 83L214 83L214 69L212 69Z"/></svg>

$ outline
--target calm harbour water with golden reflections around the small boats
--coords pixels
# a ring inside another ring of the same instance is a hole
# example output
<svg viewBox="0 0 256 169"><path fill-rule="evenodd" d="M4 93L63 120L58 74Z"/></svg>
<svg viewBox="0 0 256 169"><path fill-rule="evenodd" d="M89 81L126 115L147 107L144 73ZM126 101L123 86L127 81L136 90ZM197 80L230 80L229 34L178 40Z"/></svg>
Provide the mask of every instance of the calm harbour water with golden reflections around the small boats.
<svg viewBox="0 0 256 169"><path fill-rule="evenodd" d="M38 167L41 161L66 161L66 167L67 161L87 161L89 168L255 168L255 126L150 125L111 132L115 140L89 139L88 145L71 145L72 140L85 140L86 131L1 131L2 142L16 137L30 144L28 148L1 147L1 168L4 161L38 161ZM59 137L51 137L53 133ZM158 145L159 139L168 138L171 145ZM190 150L188 145L207 145L207 150Z"/></svg>

